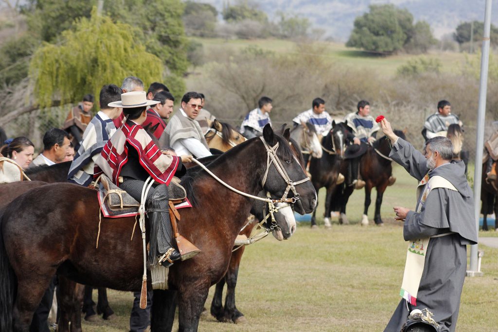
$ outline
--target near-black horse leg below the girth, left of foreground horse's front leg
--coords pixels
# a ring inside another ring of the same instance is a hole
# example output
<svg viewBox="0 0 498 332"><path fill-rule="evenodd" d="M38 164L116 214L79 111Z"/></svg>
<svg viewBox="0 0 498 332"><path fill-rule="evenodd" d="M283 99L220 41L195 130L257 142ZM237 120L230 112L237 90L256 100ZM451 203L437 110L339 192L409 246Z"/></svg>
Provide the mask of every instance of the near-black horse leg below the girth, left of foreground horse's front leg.
<svg viewBox="0 0 498 332"><path fill-rule="evenodd" d="M177 292L155 289L153 293L150 330L153 332L171 332L178 302Z"/></svg>

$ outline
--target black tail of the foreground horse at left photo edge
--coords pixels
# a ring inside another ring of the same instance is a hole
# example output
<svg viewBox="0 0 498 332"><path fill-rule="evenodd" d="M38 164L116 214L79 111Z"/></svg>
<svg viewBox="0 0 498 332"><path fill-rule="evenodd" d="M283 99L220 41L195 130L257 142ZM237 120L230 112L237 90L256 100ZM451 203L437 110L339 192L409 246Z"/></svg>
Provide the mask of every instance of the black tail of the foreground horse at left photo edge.
<svg viewBox="0 0 498 332"><path fill-rule="evenodd" d="M10 265L1 231L3 211L0 211L0 331L12 331L12 307L17 280Z"/></svg>

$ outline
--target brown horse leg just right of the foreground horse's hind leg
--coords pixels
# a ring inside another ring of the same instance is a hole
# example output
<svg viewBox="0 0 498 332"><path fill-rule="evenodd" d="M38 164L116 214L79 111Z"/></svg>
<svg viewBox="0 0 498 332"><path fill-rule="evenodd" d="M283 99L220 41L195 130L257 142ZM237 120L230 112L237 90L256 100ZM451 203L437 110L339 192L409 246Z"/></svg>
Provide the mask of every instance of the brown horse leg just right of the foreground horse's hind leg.
<svg viewBox="0 0 498 332"><path fill-rule="evenodd" d="M58 332L81 332L81 302L86 287L64 276L59 276L57 303L60 318L57 324Z"/></svg>

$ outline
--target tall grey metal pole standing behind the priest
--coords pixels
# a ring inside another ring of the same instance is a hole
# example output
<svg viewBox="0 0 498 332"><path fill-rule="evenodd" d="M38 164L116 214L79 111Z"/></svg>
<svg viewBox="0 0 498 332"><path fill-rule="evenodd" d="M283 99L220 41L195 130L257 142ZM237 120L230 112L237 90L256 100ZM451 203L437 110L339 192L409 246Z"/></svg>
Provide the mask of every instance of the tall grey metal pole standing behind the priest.
<svg viewBox="0 0 498 332"><path fill-rule="evenodd" d="M490 55L491 0L486 0L484 14L483 54L481 57L481 81L479 86L479 109L477 113L476 163L474 171L474 209L476 213L476 228L479 232L479 216L481 211L481 179L483 175L484 121L486 115L486 94L488 90L488 63ZM468 276L483 275L478 270L478 245L470 250L470 271Z"/></svg>

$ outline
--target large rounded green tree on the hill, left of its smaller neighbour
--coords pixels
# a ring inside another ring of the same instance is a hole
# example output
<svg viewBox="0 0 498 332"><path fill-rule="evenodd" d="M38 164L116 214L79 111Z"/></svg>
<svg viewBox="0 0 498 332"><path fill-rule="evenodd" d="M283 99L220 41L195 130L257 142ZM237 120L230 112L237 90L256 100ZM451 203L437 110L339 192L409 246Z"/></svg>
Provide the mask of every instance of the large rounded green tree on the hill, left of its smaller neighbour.
<svg viewBox="0 0 498 332"><path fill-rule="evenodd" d="M413 16L406 9L393 4L370 5L370 12L355 19L346 46L382 53L398 51L409 38L412 22Z"/></svg>

